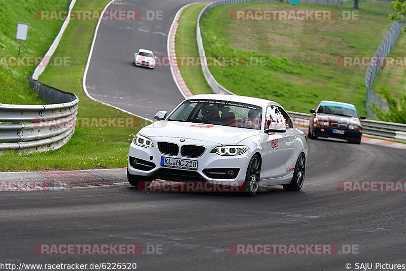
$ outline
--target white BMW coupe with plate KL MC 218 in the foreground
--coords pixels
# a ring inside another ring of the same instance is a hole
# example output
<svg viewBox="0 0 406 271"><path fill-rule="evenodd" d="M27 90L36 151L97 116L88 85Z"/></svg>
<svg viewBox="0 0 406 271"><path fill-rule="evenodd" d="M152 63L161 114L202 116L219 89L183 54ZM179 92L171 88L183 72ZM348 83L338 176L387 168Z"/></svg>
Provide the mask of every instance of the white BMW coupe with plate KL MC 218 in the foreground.
<svg viewBox="0 0 406 271"><path fill-rule="evenodd" d="M154 179L202 181L244 187L301 189L306 171L306 135L277 103L259 98L192 96L142 128L132 141L127 177L132 186Z"/></svg>

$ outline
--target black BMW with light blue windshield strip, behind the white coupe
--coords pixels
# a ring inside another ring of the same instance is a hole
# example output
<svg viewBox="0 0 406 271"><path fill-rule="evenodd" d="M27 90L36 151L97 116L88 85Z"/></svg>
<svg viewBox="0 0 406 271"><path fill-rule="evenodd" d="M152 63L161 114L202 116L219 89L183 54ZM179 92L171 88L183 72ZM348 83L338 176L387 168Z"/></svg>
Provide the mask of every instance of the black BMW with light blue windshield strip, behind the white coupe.
<svg viewBox="0 0 406 271"><path fill-rule="evenodd" d="M310 113L309 138L337 138L350 143L361 143L360 120L365 119L365 116L359 116L354 105L322 100Z"/></svg>

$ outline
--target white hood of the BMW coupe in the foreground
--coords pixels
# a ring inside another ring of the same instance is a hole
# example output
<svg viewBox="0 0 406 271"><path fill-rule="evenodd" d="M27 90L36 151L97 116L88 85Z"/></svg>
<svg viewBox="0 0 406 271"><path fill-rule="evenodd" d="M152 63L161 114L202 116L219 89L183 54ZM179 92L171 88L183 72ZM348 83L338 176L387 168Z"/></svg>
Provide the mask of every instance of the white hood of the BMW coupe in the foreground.
<svg viewBox="0 0 406 271"><path fill-rule="evenodd" d="M183 138L230 145L260 134L260 130L163 120L142 128L140 134L150 138Z"/></svg>

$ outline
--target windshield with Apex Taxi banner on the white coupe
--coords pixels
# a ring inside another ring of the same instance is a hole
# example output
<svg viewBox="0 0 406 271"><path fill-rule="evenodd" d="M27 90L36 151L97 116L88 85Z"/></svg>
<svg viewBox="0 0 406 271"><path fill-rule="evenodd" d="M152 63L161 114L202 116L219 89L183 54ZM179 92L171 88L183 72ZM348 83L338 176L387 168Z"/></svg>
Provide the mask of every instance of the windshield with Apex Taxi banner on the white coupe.
<svg viewBox="0 0 406 271"><path fill-rule="evenodd" d="M261 129L262 108L223 100L187 100L167 119Z"/></svg>

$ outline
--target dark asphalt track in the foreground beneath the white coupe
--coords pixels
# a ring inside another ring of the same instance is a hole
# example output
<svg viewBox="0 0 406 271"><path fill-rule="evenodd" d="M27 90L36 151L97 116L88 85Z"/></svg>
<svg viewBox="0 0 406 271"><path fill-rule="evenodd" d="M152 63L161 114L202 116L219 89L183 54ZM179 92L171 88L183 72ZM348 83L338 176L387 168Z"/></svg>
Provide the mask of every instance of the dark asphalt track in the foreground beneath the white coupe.
<svg viewBox="0 0 406 271"><path fill-rule="evenodd" d="M140 192L127 184L0 195L2 262L136 262L140 270L346 270L404 263L404 192L344 192L344 180L406 181L405 151L310 141L300 192ZM125 171L123 171L125 174ZM36 244L147 244L157 255L37 255ZM233 244L355 245L358 254L234 255ZM403 262L402 262L403 261Z"/></svg>

